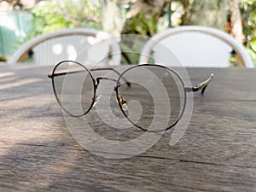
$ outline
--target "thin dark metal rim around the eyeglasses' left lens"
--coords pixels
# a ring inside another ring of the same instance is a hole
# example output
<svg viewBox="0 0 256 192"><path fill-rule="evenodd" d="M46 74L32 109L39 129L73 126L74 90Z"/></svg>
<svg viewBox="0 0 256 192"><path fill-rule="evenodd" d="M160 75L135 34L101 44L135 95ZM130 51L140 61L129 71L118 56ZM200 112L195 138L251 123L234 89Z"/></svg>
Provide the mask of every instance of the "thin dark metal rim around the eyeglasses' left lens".
<svg viewBox="0 0 256 192"><path fill-rule="evenodd" d="M92 81L93 81L93 101L91 102L91 104L90 104L90 108L88 108L88 110L85 112L85 113L83 113L83 114L80 114L80 115L74 115L73 113L70 113L70 112L68 112L67 111L67 109L66 108L64 108L62 105L61 105L61 101L59 100L59 98L58 98L58 96L57 96L57 93L56 93L56 90L55 90L55 75L54 75L54 73L55 73L55 70L57 69L57 67L59 67L61 64L63 64L64 62L72 62L72 63L74 63L74 64L77 64L77 65L79 65L80 67L84 67L84 65L82 65L82 64L80 64L79 62L77 62L77 61L61 61L61 62L59 62L55 67L54 67L54 69L53 69L53 71L52 71L52 81L51 81L51 83L52 83L52 87L53 87L53 90L54 90L54 93L55 93L55 98L56 98L56 100L57 100L57 102L58 102L58 104L61 106L61 108L62 108L62 110L63 111L65 111L66 113L68 113L69 115L71 115L72 117L82 117L82 116L84 116L86 113L88 113L89 111L90 111L90 109L93 107L93 105L94 105L94 103L95 103L95 99L96 99L96 80L95 80L95 78L94 78L94 76L92 75L92 73L90 73L90 70L89 69L87 69L86 67L84 67L84 69L90 74L90 78L92 79Z"/></svg>

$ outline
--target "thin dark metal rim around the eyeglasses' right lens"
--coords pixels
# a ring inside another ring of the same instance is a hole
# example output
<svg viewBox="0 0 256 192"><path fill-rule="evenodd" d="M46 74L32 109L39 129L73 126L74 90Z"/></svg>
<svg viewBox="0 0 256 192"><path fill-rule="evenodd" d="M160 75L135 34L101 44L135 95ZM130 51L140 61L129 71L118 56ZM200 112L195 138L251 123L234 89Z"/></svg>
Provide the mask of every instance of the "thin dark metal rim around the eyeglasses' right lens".
<svg viewBox="0 0 256 192"><path fill-rule="evenodd" d="M117 80L116 85L115 85L116 99L117 99L117 101L118 101L118 103L119 103L119 108L120 108L120 110L122 111L122 113L125 115L125 118L128 119L128 120L131 122L132 125L135 125L137 128L139 128L139 129L141 129L141 130L143 130L143 131L149 131L149 130L147 130L147 129L144 129L142 126L139 126L139 125L134 124L134 123L131 121L131 119L129 119L129 118L127 117L125 111L124 111L123 108L122 108L121 103L119 102L119 86L120 86L120 84L121 84L121 83L120 83L120 79L122 79L123 75L124 75L125 73L127 73L128 71L130 71L131 69L133 69L133 68L135 68L135 67L145 67L145 66L164 68L164 69L166 69L167 71L170 71L170 72L174 73L174 74L177 76L177 78L181 81L181 83L183 84L182 89L183 89L183 93L184 93L184 104L183 104L182 112L180 113L178 119L177 119L171 126L168 126L168 127L166 127L165 130L161 130L161 131L170 130L173 126L177 125L178 121L183 117L183 113L184 113L184 111L185 111L186 104L187 104L187 92L186 92L186 90L185 90L185 85L184 85L183 79L181 79L181 77L178 75L178 73L175 72L174 70L172 70L171 68L168 68L168 67L165 67L165 66L156 65L156 64L139 64L139 65L136 65L136 66L134 66L134 67L129 67L129 68L125 69L125 71L120 74L119 79ZM160 132L160 131L150 131L150 132Z"/></svg>

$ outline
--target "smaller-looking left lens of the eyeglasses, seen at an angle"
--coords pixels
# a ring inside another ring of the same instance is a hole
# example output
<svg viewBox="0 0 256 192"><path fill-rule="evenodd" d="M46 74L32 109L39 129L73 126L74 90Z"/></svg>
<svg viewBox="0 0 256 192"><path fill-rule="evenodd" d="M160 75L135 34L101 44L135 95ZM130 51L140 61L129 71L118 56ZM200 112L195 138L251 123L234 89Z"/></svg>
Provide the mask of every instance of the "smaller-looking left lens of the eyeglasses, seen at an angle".
<svg viewBox="0 0 256 192"><path fill-rule="evenodd" d="M61 108L73 116L82 116L93 105L95 89L90 72L73 61L63 61L53 73L55 96Z"/></svg>

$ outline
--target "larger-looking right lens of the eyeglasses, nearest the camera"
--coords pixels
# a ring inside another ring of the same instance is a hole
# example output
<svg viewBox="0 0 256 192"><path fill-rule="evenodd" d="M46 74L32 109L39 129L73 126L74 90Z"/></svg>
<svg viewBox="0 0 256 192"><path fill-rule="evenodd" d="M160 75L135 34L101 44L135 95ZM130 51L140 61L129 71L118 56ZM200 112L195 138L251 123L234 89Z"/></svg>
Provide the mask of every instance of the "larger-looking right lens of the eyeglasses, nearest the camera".
<svg viewBox="0 0 256 192"><path fill-rule="evenodd" d="M119 106L133 125L146 131L154 125L153 131L164 131L177 124L186 99L177 73L166 67L141 65L126 70L122 77L131 86L117 83Z"/></svg>

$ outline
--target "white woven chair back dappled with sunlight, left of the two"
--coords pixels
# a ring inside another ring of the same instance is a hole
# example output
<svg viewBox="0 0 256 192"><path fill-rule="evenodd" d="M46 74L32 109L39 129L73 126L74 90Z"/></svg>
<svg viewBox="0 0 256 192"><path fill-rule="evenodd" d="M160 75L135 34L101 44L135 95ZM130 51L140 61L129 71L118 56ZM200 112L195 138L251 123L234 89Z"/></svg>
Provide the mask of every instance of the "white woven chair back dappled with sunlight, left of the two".
<svg viewBox="0 0 256 192"><path fill-rule="evenodd" d="M119 65L121 60L119 44L108 33L87 28L65 29L32 38L21 45L8 62L25 61L28 55L32 55L37 64L73 60L84 65Z"/></svg>

